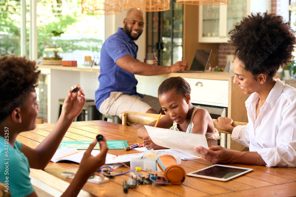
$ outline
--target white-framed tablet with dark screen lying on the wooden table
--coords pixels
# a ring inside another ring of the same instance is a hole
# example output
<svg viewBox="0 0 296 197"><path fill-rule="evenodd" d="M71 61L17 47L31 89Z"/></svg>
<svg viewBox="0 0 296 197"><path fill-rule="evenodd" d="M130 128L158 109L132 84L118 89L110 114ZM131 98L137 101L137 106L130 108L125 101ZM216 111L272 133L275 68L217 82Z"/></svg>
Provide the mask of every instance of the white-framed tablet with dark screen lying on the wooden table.
<svg viewBox="0 0 296 197"><path fill-rule="evenodd" d="M228 181L240 175L251 172L253 169L215 164L201 170L187 173L187 176Z"/></svg>

